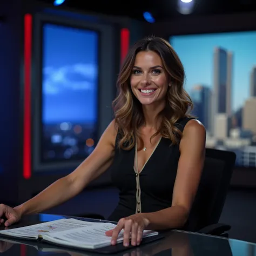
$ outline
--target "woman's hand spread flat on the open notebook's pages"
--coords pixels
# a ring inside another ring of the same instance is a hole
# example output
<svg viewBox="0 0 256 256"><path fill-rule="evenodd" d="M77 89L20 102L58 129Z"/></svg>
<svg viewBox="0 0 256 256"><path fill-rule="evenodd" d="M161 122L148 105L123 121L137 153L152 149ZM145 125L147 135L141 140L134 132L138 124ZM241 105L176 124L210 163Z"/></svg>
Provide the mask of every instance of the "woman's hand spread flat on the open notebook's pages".
<svg viewBox="0 0 256 256"><path fill-rule="evenodd" d="M124 246L139 245L143 238L143 231L149 225L149 220L143 213L131 215L127 218L120 219L113 230L107 231L106 235L112 237L111 244L116 245L120 231L124 229Z"/></svg>

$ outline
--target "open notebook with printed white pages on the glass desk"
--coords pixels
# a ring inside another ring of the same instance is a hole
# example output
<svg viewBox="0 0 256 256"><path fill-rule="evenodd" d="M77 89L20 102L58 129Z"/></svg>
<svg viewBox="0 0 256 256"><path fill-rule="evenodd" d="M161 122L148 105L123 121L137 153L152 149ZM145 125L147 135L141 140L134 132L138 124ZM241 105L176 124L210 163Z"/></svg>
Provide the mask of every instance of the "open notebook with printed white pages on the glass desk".
<svg viewBox="0 0 256 256"><path fill-rule="evenodd" d="M78 249L96 249L111 245L111 237L105 232L112 230L116 225L112 223L97 223L77 219L60 219L46 223L12 228L0 231L0 235L50 242L60 246ZM158 232L145 230L143 238L157 235ZM123 241L123 231L120 232L117 242Z"/></svg>

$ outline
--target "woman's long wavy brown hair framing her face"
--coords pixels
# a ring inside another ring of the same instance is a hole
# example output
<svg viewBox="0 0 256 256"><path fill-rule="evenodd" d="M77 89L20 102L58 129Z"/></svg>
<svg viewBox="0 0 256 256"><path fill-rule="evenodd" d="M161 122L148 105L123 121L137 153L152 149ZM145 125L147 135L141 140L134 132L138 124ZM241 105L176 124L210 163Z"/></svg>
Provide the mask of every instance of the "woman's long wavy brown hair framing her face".
<svg viewBox="0 0 256 256"><path fill-rule="evenodd" d="M130 85L134 61L140 51L154 51L161 57L171 83L166 94L165 108L158 114L160 127L151 139L160 133L164 138L170 139L172 144L177 144L182 133L176 123L180 118L190 116L188 113L193 107L191 98L183 87L185 79L183 64L170 43L159 37L146 37L138 41L124 60L117 79L118 96L112 104L120 133L118 147L124 150L132 149L136 139L140 142L140 148L143 147L139 132L139 128L145 124L142 104L133 95Z"/></svg>

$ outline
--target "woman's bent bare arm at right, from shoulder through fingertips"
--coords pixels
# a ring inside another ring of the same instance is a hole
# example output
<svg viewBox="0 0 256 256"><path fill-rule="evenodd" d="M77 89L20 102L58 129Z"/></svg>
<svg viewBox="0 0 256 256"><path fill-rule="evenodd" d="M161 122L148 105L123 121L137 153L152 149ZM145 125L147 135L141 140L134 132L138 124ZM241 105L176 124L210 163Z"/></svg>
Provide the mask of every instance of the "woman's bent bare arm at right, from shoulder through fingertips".
<svg viewBox="0 0 256 256"><path fill-rule="evenodd" d="M183 131L179 149L180 158L173 188L172 206L152 213L138 213L120 219L117 227L106 234L116 244L119 232L124 228L124 245L137 245L142 240L143 230L166 230L181 228L187 221L196 196L205 160L206 131L203 124L190 120Z"/></svg>

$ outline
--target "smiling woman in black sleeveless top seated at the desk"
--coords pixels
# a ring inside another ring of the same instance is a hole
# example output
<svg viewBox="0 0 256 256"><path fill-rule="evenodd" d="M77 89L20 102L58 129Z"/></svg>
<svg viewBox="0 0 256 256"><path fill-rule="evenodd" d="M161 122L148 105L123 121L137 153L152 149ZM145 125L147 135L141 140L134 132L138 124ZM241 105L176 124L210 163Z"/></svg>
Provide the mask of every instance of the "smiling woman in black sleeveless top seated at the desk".
<svg viewBox="0 0 256 256"><path fill-rule="evenodd" d="M184 228L196 196L205 157L205 128L190 116L184 69L162 38L150 37L129 51L117 81L115 118L95 150L68 176L14 209L0 205L9 226L21 215L45 211L75 197L111 169L119 203L106 235L116 244L140 244L144 230ZM90 142L87 142L90 144ZM131 238L131 241L130 241Z"/></svg>

